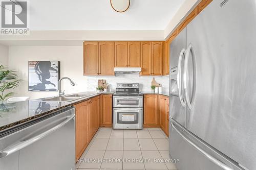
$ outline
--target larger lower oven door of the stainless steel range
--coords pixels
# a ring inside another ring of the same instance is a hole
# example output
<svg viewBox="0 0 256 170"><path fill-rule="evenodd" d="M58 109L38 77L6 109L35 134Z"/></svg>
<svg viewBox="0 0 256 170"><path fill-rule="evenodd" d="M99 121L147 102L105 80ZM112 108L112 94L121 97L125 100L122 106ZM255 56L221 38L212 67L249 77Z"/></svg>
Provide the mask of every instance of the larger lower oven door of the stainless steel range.
<svg viewBox="0 0 256 170"><path fill-rule="evenodd" d="M142 129L142 108L113 108L113 129Z"/></svg>

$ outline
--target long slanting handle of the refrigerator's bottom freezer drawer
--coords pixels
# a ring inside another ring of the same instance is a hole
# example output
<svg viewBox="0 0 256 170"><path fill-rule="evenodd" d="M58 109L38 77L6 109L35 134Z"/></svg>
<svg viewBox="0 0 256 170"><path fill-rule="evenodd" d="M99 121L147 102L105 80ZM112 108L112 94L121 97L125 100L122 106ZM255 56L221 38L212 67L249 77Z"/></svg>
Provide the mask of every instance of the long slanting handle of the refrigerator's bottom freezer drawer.
<svg viewBox="0 0 256 170"><path fill-rule="evenodd" d="M215 157L209 155L207 152L205 152L204 150L202 150L200 147L198 147L198 145L196 145L193 141L189 140L187 137L185 137L173 124L173 120L170 120L170 125L172 125L172 127L174 128L174 130L186 141L188 142L190 145L192 145L195 149L197 149L198 151L200 151L206 158L208 158L211 162L217 164L218 166L220 166L221 168L223 168L224 170L233 170L233 168L229 167L228 165L224 164L223 162L221 162L220 160L216 159Z"/></svg>

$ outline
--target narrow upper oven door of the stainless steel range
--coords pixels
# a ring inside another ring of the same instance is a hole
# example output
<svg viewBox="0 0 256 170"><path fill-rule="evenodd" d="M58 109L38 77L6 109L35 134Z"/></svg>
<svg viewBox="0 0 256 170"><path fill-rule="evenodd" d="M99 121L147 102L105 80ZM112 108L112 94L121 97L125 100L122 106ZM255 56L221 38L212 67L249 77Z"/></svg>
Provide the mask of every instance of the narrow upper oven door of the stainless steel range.
<svg viewBox="0 0 256 170"><path fill-rule="evenodd" d="M142 107L142 96L114 96L113 107Z"/></svg>

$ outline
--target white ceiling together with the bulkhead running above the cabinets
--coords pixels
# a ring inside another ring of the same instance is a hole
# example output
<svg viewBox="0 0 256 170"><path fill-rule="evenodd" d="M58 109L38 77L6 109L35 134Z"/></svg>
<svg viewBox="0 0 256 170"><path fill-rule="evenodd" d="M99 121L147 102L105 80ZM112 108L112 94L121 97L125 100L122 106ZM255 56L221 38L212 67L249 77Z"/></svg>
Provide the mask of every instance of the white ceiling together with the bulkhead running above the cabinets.
<svg viewBox="0 0 256 170"><path fill-rule="evenodd" d="M0 35L7 46L82 45L83 41L165 40L201 0L130 0L118 13L110 0L27 0L27 35Z"/></svg>

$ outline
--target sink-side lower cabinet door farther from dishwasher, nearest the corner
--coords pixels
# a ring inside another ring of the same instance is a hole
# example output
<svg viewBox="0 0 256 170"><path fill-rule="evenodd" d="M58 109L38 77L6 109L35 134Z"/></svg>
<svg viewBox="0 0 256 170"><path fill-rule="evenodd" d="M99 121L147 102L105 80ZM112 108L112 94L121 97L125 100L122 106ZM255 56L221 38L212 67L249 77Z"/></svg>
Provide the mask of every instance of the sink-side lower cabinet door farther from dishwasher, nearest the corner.
<svg viewBox="0 0 256 170"><path fill-rule="evenodd" d="M91 140L99 126L99 97L89 101L88 138Z"/></svg>

